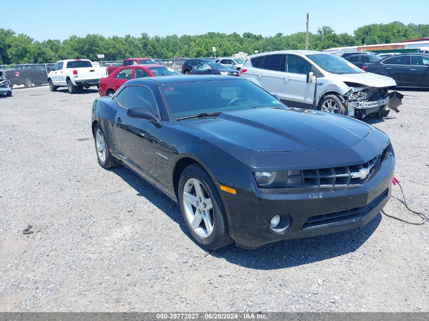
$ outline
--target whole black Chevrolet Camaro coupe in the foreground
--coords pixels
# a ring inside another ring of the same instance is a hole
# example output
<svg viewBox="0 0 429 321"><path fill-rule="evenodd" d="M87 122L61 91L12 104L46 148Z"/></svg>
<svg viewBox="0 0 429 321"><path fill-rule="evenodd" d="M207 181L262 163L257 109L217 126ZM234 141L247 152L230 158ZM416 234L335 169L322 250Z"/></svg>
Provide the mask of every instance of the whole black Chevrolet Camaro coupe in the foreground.
<svg viewBox="0 0 429 321"><path fill-rule="evenodd" d="M95 99L92 131L100 165L122 164L178 202L210 249L363 226L390 195L385 133L288 108L241 78L130 80Z"/></svg>

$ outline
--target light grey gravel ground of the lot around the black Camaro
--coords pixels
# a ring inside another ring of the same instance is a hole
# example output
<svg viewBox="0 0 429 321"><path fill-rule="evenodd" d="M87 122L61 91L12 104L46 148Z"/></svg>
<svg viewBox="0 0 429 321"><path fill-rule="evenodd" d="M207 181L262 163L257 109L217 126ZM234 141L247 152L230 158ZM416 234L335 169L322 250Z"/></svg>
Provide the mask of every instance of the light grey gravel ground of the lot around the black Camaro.
<svg viewBox="0 0 429 321"><path fill-rule="evenodd" d="M429 91L401 92L399 114L367 121L390 135L410 206L428 212ZM429 223L379 214L352 231L206 253L178 205L97 164L97 95L0 98L0 311L429 311ZM385 210L412 219L396 199Z"/></svg>

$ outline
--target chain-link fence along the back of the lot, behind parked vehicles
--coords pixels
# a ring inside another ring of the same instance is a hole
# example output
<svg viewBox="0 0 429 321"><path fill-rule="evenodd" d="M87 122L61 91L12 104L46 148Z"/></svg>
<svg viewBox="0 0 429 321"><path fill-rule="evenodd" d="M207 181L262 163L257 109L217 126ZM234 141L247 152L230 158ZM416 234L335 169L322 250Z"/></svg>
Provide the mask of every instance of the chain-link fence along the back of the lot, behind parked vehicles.
<svg viewBox="0 0 429 321"><path fill-rule="evenodd" d="M153 59L160 65L173 68L177 72L182 72L182 65L186 59L190 58L172 58L172 59ZM192 58L193 59L193 58ZM214 59L205 57L200 59ZM122 66L122 60L112 61L93 61L94 67ZM16 88L28 88L33 86L47 86L48 73L55 63L26 63L18 65L0 65L4 71L4 76Z"/></svg>

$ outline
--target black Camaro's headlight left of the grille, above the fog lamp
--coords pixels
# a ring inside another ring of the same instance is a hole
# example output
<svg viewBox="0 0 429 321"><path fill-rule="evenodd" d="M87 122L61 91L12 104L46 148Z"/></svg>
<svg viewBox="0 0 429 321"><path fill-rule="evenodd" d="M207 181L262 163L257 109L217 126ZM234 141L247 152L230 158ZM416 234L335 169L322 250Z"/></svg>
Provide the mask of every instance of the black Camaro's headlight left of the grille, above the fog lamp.
<svg viewBox="0 0 429 321"><path fill-rule="evenodd" d="M255 175L256 184L262 188L277 187L301 187L301 170L286 171L257 171Z"/></svg>

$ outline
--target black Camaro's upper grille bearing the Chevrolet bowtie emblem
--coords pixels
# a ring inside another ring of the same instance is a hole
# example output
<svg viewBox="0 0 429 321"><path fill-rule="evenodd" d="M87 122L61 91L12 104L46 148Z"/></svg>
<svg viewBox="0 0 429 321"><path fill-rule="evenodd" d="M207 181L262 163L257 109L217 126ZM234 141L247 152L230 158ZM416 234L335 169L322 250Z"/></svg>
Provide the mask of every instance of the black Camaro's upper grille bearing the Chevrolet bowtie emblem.
<svg viewBox="0 0 429 321"><path fill-rule="evenodd" d="M383 161L387 149L363 164L289 171L295 175L288 173L284 187L346 187L364 184Z"/></svg>

